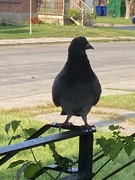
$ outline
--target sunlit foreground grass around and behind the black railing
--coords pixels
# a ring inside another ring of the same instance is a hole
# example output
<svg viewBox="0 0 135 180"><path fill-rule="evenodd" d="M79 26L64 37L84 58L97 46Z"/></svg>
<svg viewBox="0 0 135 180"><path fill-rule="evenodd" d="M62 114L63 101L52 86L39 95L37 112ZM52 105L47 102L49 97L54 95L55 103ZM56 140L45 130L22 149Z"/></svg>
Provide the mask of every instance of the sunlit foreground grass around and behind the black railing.
<svg viewBox="0 0 135 180"><path fill-rule="evenodd" d="M135 107L134 97L135 97L134 94L102 97L101 101L99 103L99 106L108 107L108 104L110 104L110 101L111 101L111 102L113 102L110 106L111 108L127 109L128 104L130 104L129 102L132 100L133 103L130 106L130 108L128 108L128 109L135 110L134 109L134 107ZM121 103L118 103L119 101L121 101ZM121 106L120 104L122 104L123 106ZM60 111L60 109L55 108L51 103L46 106L0 110L0 117L1 117L0 146L6 145L9 142L10 136L14 135L14 133L10 130L9 134L7 136L7 134L4 130L6 123L9 123L12 120L20 120L23 128L31 127L31 128L39 129L46 122L37 121L35 117L37 115L41 115L44 113L51 113L51 112L55 112L55 111ZM52 133L56 133L56 132L52 132L52 130L49 130L48 133L52 134ZM23 141L24 135L23 135L21 129L17 130L17 134L22 135L22 138L19 139L19 141ZM98 130L95 133L95 140L96 140L96 138L99 138L101 136L110 137L110 132L102 132L101 130ZM69 144L70 144L70 146L69 146ZM98 148L99 147L97 145L94 145L94 153L97 152ZM66 157L69 157L69 158L75 160L74 157L76 157L76 158L78 157L78 138L73 138L73 139L69 139L69 140L65 140L65 141L56 143L56 149L62 156L66 156ZM52 157L52 152L50 151L48 146L38 147L38 148L33 149L33 151L34 151L36 158L38 160L41 160L42 164L49 165L49 164L54 163L54 160ZM128 157L124 152L121 152L121 154L119 154L118 158L114 162L110 161L108 163L108 165L105 166L103 168L103 170L95 176L94 180L101 180L105 175L110 173L112 170L115 170L116 168L118 168L118 167L122 166L123 164L127 163L128 161L132 160L133 158L135 158L133 154L134 153L132 153L132 155L130 157ZM23 160L28 159L28 160L32 161L33 157L29 150L18 153L15 157L12 158L12 160L8 161L6 164L4 164L1 167L1 169L0 169L1 179L5 179L5 180L6 179L15 180L16 179L15 177L16 177L17 168L8 169L8 170L6 168L8 167L8 165L10 164L11 161L15 161L18 159L23 159ZM94 163L93 171L96 172L98 170L98 168L100 168L102 166L102 164L107 161L107 159L108 159L108 157L104 157L101 160L99 160L98 162ZM18 166L18 168L19 168L19 166ZM56 174L57 173L54 173L54 174L51 173L51 175L56 175ZM121 171L120 173L116 174L115 176L113 176L110 179L111 180L115 180L115 179L127 180L130 178L130 180L134 180L134 177L135 177L135 171L134 171L134 164L133 164L133 165L127 167L125 170ZM23 180L24 179L23 176L20 179ZM38 180L45 180L45 179L52 180L52 178L50 178L50 176L48 176L48 175L42 175L41 177L38 178Z"/></svg>

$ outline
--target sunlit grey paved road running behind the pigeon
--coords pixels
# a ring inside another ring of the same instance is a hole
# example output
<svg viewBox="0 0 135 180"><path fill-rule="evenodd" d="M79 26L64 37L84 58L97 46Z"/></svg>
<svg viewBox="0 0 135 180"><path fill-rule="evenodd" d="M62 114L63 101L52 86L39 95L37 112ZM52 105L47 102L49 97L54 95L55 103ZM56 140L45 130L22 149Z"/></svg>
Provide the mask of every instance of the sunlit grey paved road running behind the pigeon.
<svg viewBox="0 0 135 180"><path fill-rule="evenodd" d="M135 42L91 43L87 55L103 88L135 89ZM0 108L51 101L69 44L0 47Z"/></svg>

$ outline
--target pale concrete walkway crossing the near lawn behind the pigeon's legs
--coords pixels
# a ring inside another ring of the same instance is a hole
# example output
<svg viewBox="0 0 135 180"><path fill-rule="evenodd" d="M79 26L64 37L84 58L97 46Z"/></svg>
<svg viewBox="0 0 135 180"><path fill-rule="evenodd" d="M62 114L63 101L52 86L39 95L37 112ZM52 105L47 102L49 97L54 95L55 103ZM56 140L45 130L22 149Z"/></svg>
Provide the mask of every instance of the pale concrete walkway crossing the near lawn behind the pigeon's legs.
<svg viewBox="0 0 135 180"><path fill-rule="evenodd" d="M92 112L95 113L89 113L87 116L88 123L90 125L95 125L97 130L102 129L108 131L109 125L114 124L122 126L124 129L121 132L124 134L131 135L135 132L135 123L128 120L128 118L135 118L135 111L93 107ZM98 114L96 114L96 112L98 112ZM114 115L116 119L114 119ZM36 119L44 121L45 123L63 123L66 116L61 116L60 113L50 113L39 115ZM70 122L74 125L84 125L83 120L80 117L73 116Z"/></svg>

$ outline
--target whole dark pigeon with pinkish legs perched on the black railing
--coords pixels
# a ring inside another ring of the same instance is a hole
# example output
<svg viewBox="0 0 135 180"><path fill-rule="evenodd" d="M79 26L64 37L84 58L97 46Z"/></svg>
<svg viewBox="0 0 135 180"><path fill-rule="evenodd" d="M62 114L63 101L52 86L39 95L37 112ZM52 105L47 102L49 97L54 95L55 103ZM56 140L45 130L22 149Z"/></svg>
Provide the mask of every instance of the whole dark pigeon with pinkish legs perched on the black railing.
<svg viewBox="0 0 135 180"><path fill-rule="evenodd" d="M85 50L94 49L85 37L74 38L68 48L68 59L56 76L52 86L52 99L61 106L67 118L61 126L68 125L71 116L81 116L89 128L87 114L99 101L101 85L89 63Z"/></svg>

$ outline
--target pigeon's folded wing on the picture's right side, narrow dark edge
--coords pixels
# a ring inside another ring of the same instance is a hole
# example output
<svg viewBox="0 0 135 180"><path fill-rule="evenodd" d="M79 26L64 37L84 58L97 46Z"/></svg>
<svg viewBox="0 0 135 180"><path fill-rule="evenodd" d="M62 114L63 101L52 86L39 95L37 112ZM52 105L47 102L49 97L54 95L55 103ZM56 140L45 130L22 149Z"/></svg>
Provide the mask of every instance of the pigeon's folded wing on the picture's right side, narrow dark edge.
<svg viewBox="0 0 135 180"><path fill-rule="evenodd" d="M93 83L93 92L94 92L94 103L93 105L96 105L99 101L100 95L101 95L101 85L99 83L99 80L97 76L95 75L95 81Z"/></svg>

